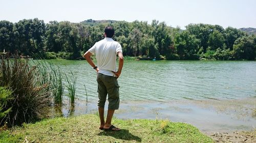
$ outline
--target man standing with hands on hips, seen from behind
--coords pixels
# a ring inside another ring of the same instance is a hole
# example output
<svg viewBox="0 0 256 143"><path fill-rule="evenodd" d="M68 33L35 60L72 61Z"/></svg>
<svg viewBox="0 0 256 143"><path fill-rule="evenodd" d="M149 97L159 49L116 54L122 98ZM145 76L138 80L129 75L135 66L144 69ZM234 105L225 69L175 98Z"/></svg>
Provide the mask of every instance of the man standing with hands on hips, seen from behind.
<svg viewBox="0 0 256 143"><path fill-rule="evenodd" d="M100 130L120 130L111 124L113 114L119 108L119 85L117 78L123 67L123 54L121 45L114 41L114 29L108 26L104 30L104 39L96 42L83 57L97 71L98 82L98 110L100 118ZM98 66L91 60L91 55L96 55ZM119 56L119 66L116 71L116 55ZM104 105L108 94L109 107L106 122L104 121Z"/></svg>

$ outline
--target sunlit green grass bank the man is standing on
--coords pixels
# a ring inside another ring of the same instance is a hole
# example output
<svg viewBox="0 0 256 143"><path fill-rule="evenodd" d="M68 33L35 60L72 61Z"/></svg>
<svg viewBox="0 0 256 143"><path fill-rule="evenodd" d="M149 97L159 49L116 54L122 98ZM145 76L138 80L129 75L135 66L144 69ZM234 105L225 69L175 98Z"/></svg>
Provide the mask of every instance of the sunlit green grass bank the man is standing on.
<svg viewBox="0 0 256 143"><path fill-rule="evenodd" d="M0 142L214 142L196 127L166 120L119 120L121 131L98 129L97 115L55 118L2 131Z"/></svg>

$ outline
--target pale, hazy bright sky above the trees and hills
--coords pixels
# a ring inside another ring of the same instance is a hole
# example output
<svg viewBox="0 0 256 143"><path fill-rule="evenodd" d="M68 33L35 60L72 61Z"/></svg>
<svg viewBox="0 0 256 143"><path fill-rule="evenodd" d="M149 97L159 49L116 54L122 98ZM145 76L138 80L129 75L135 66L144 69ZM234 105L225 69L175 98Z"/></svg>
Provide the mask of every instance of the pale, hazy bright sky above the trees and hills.
<svg viewBox="0 0 256 143"><path fill-rule="evenodd" d="M0 20L11 22L156 19L182 29L189 23L256 28L256 0L0 0L0 7Z"/></svg>

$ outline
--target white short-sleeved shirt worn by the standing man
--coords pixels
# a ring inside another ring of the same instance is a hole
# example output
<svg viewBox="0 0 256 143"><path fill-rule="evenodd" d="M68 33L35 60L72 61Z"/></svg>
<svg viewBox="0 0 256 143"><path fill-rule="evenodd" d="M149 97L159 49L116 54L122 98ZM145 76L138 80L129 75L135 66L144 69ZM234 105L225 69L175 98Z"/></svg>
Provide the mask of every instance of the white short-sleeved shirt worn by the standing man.
<svg viewBox="0 0 256 143"><path fill-rule="evenodd" d="M112 38L104 38L96 42L88 51L95 53L99 73L116 76L112 71L116 72L117 52L122 52L122 47L118 42Z"/></svg>

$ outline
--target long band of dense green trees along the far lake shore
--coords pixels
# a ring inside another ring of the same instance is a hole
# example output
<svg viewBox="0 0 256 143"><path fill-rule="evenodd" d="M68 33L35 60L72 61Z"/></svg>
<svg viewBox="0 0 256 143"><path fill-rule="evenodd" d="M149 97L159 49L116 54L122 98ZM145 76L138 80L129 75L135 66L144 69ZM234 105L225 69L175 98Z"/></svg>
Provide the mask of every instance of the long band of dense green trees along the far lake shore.
<svg viewBox="0 0 256 143"><path fill-rule="evenodd" d="M186 30L167 26L165 22L111 21L96 24L24 19L16 23L0 21L0 50L12 54L48 59L56 56L78 59L103 39L104 27L115 29L114 40L123 54L167 60L255 60L256 36L237 28L210 24L189 24ZM56 54L55 54L56 53Z"/></svg>

